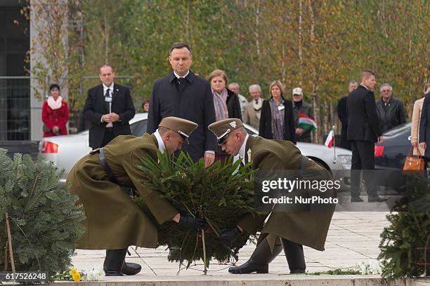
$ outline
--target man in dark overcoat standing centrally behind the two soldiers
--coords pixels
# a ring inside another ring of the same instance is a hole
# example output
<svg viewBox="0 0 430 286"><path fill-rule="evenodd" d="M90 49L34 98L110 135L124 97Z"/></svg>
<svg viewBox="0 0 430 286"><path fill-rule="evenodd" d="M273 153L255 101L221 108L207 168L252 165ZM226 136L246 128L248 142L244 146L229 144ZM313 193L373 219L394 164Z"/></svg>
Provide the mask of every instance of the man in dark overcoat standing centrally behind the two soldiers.
<svg viewBox="0 0 430 286"><path fill-rule="evenodd" d="M190 71L193 55L186 43L174 43L169 50L173 71L158 79L152 88L148 113L148 133L157 130L162 118L176 116L199 125L190 137L190 144L183 148L193 161L204 157L204 165L214 163L216 139L207 129L215 122L214 98L206 79Z"/></svg>

